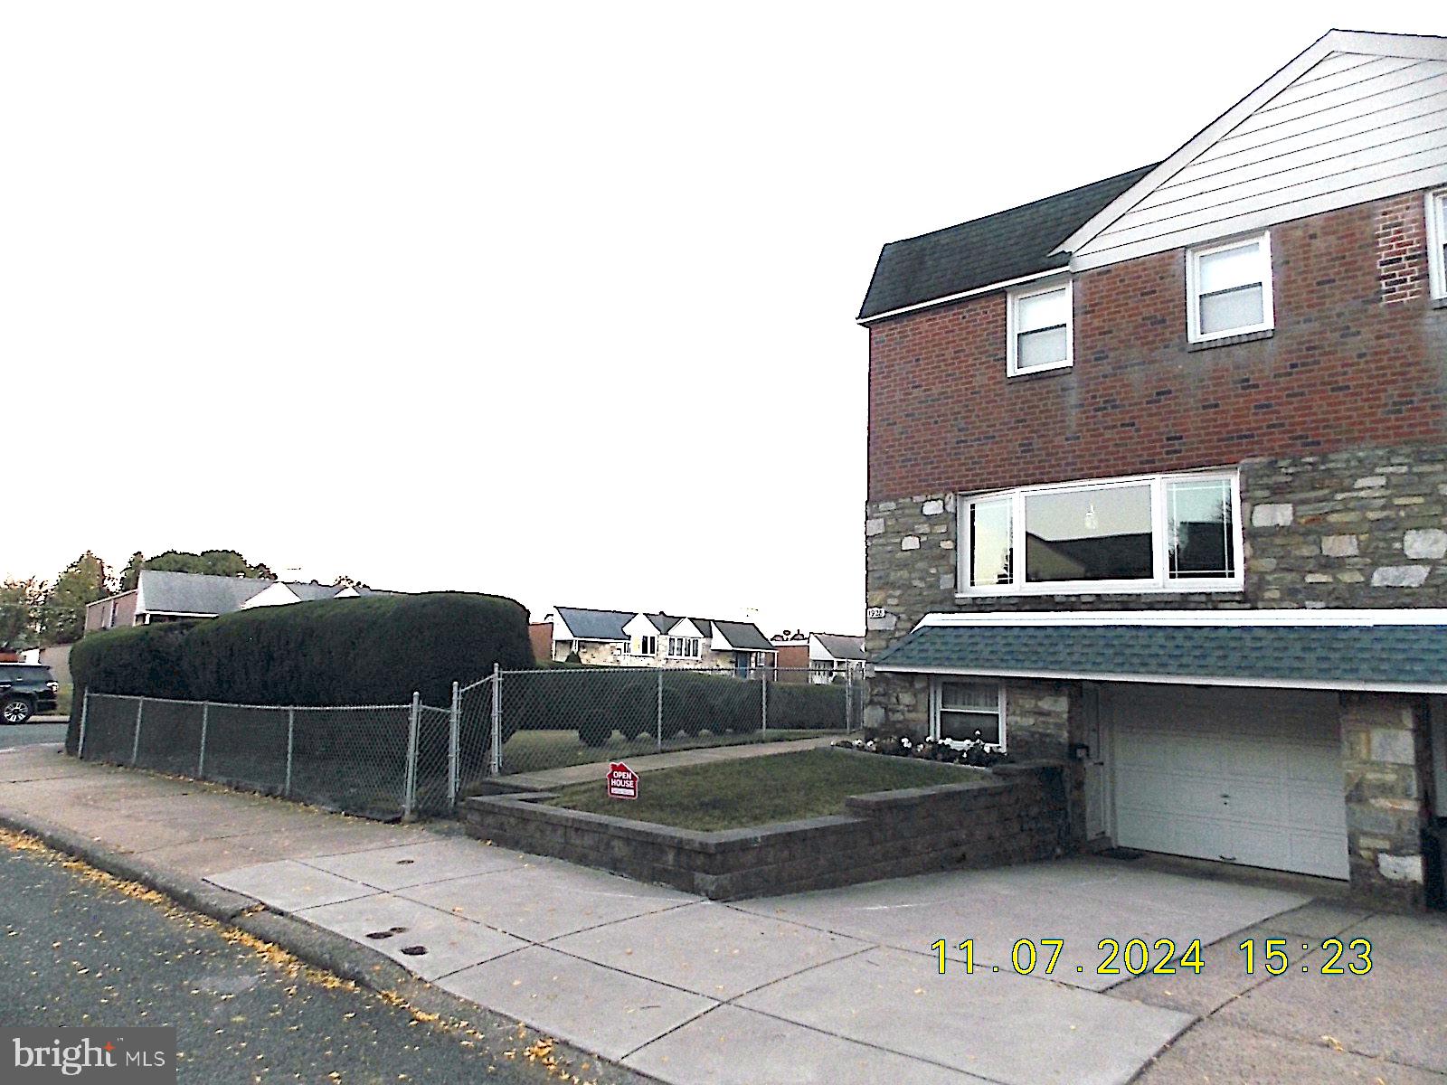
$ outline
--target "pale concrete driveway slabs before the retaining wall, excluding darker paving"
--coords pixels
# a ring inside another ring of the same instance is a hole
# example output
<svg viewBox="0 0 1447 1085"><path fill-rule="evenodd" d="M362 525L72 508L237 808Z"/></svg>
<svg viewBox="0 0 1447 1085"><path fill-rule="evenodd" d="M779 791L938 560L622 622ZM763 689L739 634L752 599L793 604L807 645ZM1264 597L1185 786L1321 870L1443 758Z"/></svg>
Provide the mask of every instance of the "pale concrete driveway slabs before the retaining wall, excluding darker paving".
<svg viewBox="0 0 1447 1085"><path fill-rule="evenodd" d="M1127 1082L1201 1014L1176 994L1107 994L1130 975L1097 972L1101 939L1184 950L1308 903L1069 859L718 904L466 839L210 881L632 1069L741 1085ZM945 975L936 939L951 946ZM1033 974L1016 974L1019 939L1064 940L1051 975L1043 946ZM1181 990L1218 991L1236 965L1208 963Z"/></svg>

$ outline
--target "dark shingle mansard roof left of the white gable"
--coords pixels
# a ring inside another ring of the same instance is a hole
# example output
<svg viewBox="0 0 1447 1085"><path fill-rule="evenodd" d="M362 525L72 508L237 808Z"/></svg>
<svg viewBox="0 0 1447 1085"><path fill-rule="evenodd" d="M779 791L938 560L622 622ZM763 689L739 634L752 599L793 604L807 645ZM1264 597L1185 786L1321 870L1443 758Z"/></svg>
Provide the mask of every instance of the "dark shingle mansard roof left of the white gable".
<svg viewBox="0 0 1447 1085"><path fill-rule="evenodd" d="M1033 204L890 242L874 265L860 320L1064 268L1068 256L1051 252L1152 169L1155 163Z"/></svg>

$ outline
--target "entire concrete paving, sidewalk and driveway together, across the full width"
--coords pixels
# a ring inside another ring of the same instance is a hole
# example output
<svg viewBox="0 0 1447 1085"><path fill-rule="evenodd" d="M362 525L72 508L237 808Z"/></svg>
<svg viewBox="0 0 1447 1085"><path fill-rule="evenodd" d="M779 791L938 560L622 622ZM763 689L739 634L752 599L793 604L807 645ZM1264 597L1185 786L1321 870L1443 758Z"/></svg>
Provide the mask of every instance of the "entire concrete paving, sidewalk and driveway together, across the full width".
<svg viewBox="0 0 1447 1085"><path fill-rule="evenodd" d="M1142 1071L1150 1085L1444 1085L1447 1072L1447 923L1142 864L1069 859L718 904L43 748L0 757L0 820L72 833L162 882L204 878L191 894L203 906L239 923L285 917L278 940L324 933L679 1085L1121 1085ZM269 911L243 910L256 901ZM1308 968L1338 932L1380 950L1367 977L1244 977L1243 930L1315 945L1294 956ZM1207 968L1101 975L1106 937L1200 939ZM1011 965L1019 939L1040 953L1030 975ZM1065 942L1048 977L1043 939Z"/></svg>

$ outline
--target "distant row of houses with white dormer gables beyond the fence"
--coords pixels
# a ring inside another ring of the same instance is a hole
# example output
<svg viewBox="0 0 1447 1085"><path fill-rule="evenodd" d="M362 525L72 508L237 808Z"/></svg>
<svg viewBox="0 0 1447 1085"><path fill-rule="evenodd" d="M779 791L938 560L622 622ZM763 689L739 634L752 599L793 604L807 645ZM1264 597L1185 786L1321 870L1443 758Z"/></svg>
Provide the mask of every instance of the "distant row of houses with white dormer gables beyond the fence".
<svg viewBox="0 0 1447 1085"><path fill-rule="evenodd" d="M595 665L729 668L745 676L777 665L774 644L752 622L580 606L559 606L544 621L553 622L554 661L577 654Z"/></svg>

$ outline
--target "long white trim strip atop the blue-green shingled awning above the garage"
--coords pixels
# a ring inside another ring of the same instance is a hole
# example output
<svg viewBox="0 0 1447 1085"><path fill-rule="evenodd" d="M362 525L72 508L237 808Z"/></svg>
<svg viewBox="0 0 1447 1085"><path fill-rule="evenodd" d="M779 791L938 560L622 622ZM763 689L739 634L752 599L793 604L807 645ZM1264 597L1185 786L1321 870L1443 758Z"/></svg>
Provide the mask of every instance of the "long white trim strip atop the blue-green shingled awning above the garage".
<svg viewBox="0 0 1447 1085"><path fill-rule="evenodd" d="M1372 610L1314 610L1279 608L1272 610L990 610L987 613L928 613L915 626L969 625L1217 625L1217 626L1291 626L1291 625L1447 625L1443 608L1380 608Z"/></svg>

